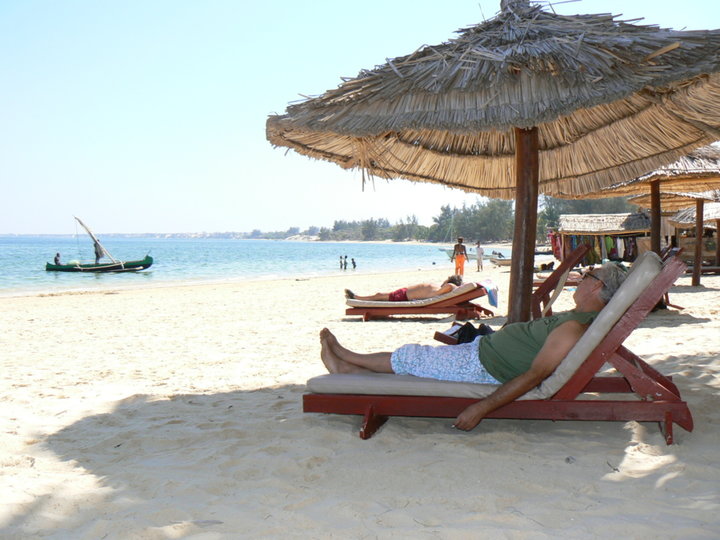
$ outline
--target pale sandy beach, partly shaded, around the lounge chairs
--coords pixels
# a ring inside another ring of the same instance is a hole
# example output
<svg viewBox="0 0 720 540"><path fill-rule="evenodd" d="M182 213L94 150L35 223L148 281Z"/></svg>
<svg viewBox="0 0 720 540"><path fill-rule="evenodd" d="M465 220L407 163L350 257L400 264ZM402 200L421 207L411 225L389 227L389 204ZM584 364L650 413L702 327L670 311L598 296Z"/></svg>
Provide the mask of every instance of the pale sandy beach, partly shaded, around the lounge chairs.
<svg viewBox="0 0 720 540"><path fill-rule="evenodd" d="M499 326L509 273L487 267L466 277L500 286ZM362 441L358 417L302 413L323 326L360 351L449 326L346 317L345 287L450 270L0 299L0 537L720 536L720 277L681 278L685 309L626 341L690 405L673 446L656 424L425 418Z"/></svg>

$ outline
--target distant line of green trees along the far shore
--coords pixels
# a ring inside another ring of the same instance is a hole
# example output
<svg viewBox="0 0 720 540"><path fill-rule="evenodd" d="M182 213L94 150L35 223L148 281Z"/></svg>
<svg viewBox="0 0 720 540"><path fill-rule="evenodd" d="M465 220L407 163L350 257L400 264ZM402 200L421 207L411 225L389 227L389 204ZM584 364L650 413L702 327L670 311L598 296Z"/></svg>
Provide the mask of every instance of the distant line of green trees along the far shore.
<svg viewBox="0 0 720 540"><path fill-rule="evenodd" d="M540 197L537 239L545 241L548 228L558 225L560 214L614 214L633 212L635 207L624 197L613 199L564 200ZM289 236L316 236L323 241L383 241L415 240L420 242L452 242L458 236L466 242L503 242L512 239L515 213L512 201L480 200L462 208L442 206L429 227L418 224L416 216L408 216L395 224L385 218L362 221L335 221L332 227L312 226L301 231L290 227L286 231L245 233L245 238L284 239Z"/></svg>

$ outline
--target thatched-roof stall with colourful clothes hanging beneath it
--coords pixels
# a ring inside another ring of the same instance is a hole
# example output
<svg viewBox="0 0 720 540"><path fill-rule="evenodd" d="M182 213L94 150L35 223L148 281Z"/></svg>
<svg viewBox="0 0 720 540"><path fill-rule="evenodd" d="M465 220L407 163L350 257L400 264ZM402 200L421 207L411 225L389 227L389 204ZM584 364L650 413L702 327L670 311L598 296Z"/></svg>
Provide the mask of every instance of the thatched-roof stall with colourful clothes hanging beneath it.
<svg viewBox="0 0 720 540"><path fill-rule="evenodd" d="M634 261L650 248L650 217L644 212L625 214L562 214L558 219L563 259L581 244L590 246L582 264L603 259Z"/></svg>

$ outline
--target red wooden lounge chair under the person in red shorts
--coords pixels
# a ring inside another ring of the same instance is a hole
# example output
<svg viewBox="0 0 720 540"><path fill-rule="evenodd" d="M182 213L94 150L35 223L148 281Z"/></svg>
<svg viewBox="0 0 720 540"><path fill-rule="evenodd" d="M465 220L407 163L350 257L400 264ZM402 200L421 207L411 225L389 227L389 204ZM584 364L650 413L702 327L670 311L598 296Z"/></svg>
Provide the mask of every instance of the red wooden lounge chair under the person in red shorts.
<svg viewBox="0 0 720 540"><path fill-rule="evenodd" d="M427 315L448 313L455 315L456 319L464 320L479 318L483 315L492 317L494 313L479 304L472 302L476 298L486 296L488 289L480 283L464 283L457 289L440 296L424 300L409 300L406 302L381 302L372 300L348 299L349 306L346 315L361 315L363 320L369 321L390 315Z"/></svg>

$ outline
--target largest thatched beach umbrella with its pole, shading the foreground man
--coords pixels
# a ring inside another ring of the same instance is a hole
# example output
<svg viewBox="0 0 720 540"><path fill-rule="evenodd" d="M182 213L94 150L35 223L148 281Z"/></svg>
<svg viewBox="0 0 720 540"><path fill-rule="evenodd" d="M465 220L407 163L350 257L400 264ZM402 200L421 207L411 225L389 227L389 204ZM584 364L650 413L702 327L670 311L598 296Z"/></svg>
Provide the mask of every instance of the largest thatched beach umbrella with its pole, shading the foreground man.
<svg viewBox="0 0 720 540"><path fill-rule="evenodd" d="M720 31L501 6L269 117L267 138L383 178L514 196L516 321L530 314L538 191L581 196L720 138Z"/></svg>

